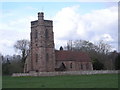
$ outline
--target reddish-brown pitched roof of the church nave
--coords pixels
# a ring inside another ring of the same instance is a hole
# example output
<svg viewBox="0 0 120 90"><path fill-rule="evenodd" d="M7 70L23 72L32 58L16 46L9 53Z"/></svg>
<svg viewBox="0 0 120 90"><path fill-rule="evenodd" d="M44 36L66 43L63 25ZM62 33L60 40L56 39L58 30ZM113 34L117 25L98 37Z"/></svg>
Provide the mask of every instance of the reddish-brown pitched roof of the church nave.
<svg viewBox="0 0 120 90"><path fill-rule="evenodd" d="M90 62L90 57L87 53L76 51L55 50L55 58L57 61Z"/></svg>

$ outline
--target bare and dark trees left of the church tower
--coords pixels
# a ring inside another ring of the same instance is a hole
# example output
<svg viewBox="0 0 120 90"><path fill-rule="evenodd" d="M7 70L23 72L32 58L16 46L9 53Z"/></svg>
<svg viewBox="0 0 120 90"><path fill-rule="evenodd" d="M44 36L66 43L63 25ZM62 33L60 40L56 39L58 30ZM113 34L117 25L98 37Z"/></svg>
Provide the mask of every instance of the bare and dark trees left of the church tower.
<svg viewBox="0 0 120 90"><path fill-rule="evenodd" d="M25 39L18 40L13 47L15 51L19 52L19 55L3 56L0 54L3 75L12 75L12 73L22 73L24 71L24 63L29 52L30 42Z"/></svg>

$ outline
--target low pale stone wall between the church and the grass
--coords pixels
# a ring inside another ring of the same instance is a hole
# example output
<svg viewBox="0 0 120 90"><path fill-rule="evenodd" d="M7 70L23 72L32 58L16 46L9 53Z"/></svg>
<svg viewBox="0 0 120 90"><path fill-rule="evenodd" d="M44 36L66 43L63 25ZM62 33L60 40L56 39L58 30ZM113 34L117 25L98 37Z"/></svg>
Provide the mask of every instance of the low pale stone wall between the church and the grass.
<svg viewBox="0 0 120 90"><path fill-rule="evenodd" d="M64 72L34 72L30 73L13 73L13 77L17 76L59 76L59 75L90 75L90 74L112 74L119 73L118 70L93 70L93 71L64 71Z"/></svg>

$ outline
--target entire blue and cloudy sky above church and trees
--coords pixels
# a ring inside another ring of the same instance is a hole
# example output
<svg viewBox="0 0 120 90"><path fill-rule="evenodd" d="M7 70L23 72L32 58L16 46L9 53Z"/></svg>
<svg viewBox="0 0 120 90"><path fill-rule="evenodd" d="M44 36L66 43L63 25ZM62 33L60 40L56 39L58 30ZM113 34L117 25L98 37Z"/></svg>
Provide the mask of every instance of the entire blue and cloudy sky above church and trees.
<svg viewBox="0 0 120 90"><path fill-rule="evenodd" d="M1 2L0 53L17 54L13 48L21 39L30 40L30 22L37 13L53 20L55 48L68 40L104 40L118 50L117 2Z"/></svg>

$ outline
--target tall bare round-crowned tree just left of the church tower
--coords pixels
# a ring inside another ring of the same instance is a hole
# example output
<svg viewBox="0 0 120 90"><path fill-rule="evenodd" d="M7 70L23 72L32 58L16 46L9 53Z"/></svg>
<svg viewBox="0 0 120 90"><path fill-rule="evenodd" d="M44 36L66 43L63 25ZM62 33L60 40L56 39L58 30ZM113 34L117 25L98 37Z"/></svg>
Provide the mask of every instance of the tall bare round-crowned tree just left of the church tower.
<svg viewBox="0 0 120 90"><path fill-rule="evenodd" d="M22 56L22 67L24 68L24 63L25 63L25 60L27 58L27 54L28 54L28 50L29 50L29 45L30 45L30 42L28 40L18 40L15 45L14 45L14 48L18 51L20 51L21 53L21 56Z"/></svg>

